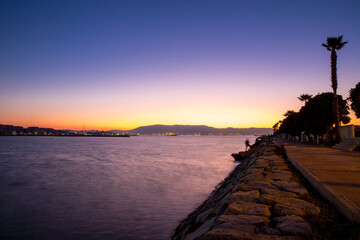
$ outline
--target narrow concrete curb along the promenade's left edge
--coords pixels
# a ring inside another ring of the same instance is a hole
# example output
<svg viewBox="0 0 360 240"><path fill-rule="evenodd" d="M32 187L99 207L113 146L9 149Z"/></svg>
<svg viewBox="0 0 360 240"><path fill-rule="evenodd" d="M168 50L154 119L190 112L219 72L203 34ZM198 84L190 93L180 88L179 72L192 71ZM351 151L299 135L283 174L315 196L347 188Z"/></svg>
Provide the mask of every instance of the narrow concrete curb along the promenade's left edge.
<svg viewBox="0 0 360 240"><path fill-rule="evenodd" d="M295 168L306 180L309 181L309 183L321 194L321 196L323 196L323 198L333 204L341 214L349 219L349 221L360 223L360 212L356 205L354 205L350 200L347 200L344 196L337 194L334 190L329 190L314 174L311 173L311 171L306 169L288 152L286 152L286 155Z"/></svg>

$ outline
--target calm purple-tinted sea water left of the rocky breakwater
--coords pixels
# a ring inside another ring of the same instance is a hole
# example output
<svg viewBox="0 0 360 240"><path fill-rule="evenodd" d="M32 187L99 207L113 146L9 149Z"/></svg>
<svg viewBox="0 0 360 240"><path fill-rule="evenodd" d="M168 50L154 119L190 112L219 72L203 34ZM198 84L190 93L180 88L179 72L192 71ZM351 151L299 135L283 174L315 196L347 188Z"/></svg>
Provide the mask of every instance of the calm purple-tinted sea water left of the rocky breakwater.
<svg viewBox="0 0 360 240"><path fill-rule="evenodd" d="M0 137L0 239L167 239L255 137Z"/></svg>

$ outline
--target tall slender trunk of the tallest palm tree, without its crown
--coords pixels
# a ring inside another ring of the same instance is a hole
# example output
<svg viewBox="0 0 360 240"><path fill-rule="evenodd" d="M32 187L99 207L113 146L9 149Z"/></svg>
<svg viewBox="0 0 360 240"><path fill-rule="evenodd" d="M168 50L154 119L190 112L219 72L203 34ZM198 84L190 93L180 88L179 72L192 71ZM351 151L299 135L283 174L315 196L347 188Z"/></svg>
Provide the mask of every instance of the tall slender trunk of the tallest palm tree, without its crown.
<svg viewBox="0 0 360 240"><path fill-rule="evenodd" d="M334 114L335 114L335 141L340 142L340 118L339 118L339 102L337 97L337 55L335 49L331 51L331 87L334 91Z"/></svg>

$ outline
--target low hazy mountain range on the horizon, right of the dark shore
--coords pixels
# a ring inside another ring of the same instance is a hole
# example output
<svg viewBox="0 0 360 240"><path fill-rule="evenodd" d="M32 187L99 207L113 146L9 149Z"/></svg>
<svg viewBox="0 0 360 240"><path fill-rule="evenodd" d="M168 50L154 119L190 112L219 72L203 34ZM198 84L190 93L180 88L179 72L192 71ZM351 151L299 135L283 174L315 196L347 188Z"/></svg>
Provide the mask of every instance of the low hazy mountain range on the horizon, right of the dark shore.
<svg viewBox="0 0 360 240"><path fill-rule="evenodd" d="M177 133L178 135L255 135L272 134L272 128L214 128L205 125L150 125L138 127L129 131L110 130L114 133L129 133L140 135Z"/></svg>

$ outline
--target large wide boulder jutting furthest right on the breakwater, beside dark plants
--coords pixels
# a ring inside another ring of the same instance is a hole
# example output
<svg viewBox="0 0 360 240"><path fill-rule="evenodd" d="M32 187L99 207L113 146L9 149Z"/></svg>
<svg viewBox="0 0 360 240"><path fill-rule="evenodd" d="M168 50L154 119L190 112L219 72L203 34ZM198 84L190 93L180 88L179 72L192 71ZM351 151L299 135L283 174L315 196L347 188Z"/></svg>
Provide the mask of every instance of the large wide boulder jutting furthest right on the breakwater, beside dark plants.
<svg viewBox="0 0 360 240"><path fill-rule="evenodd" d="M284 202L276 203L273 212L278 216L316 216L320 213L320 209L313 203L298 198L287 198Z"/></svg>

